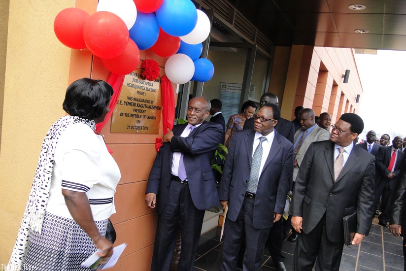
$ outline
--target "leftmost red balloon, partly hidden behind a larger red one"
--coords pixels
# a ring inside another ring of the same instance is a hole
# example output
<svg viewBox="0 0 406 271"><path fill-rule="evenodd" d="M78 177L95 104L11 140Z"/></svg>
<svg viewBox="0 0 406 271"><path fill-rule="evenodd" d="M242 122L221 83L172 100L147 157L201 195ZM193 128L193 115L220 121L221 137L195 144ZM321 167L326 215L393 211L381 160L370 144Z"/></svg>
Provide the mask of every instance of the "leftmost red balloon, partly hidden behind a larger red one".
<svg viewBox="0 0 406 271"><path fill-rule="evenodd" d="M58 13L54 21L54 32L59 41L72 49L86 48L83 25L90 17L86 11L68 7Z"/></svg>

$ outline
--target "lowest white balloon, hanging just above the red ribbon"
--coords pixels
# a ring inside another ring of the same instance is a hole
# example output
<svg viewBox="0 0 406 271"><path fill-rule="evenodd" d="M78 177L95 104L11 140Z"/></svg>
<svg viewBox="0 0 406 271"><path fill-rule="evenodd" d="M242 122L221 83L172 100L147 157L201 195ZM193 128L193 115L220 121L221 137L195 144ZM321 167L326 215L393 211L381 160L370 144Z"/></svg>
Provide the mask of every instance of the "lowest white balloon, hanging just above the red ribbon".
<svg viewBox="0 0 406 271"><path fill-rule="evenodd" d="M193 60L185 54L171 56L165 64L165 73L172 83L181 85L192 79L195 73Z"/></svg>

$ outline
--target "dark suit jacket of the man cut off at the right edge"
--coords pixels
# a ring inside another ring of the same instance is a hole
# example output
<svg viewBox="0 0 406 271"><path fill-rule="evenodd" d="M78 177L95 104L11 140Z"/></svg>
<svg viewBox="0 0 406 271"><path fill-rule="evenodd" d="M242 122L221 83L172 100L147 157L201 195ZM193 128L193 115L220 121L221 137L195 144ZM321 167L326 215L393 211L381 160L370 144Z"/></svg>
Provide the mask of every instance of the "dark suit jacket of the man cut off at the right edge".
<svg viewBox="0 0 406 271"><path fill-rule="evenodd" d="M402 162L401 173L399 176L399 181L396 186L393 198L394 202L392 204L392 212L390 216L391 224L402 225L402 237L406 237L406 160Z"/></svg>

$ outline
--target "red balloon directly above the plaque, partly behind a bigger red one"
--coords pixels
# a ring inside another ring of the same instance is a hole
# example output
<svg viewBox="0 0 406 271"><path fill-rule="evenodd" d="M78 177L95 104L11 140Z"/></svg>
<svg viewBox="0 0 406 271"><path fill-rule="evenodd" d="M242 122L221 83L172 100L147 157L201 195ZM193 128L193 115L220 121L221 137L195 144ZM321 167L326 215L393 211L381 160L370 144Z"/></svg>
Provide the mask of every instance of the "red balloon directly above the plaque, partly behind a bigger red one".
<svg viewBox="0 0 406 271"><path fill-rule="evenodd" d="M102 63L109 71L119 75L133 72L139 63L139 49L130 38L124 52L115 58L102 58Z"/></svg>

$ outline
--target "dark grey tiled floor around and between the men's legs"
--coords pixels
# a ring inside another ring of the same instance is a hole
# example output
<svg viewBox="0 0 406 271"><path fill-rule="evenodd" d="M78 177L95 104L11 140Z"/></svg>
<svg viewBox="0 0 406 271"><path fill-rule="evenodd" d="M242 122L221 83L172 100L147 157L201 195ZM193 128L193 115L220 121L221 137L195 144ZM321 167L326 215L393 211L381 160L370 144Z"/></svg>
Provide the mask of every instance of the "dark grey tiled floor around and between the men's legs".
<svg viewBox="0 0 406 271"><path fill-rule="evenodd" d="M195 271L218 271L223 242L219 228L202 235L196 256ZM292 270L296 243L284 241L282 252L287 271ZM273 263L268 249L264 249L262 271L272 271ZM239 270L239 269L238 269ZM393 236L388 228L372 222L371 232L360 245L344 246L340 270L342 271L401 271L403 270L402 237Z"/></svg>

